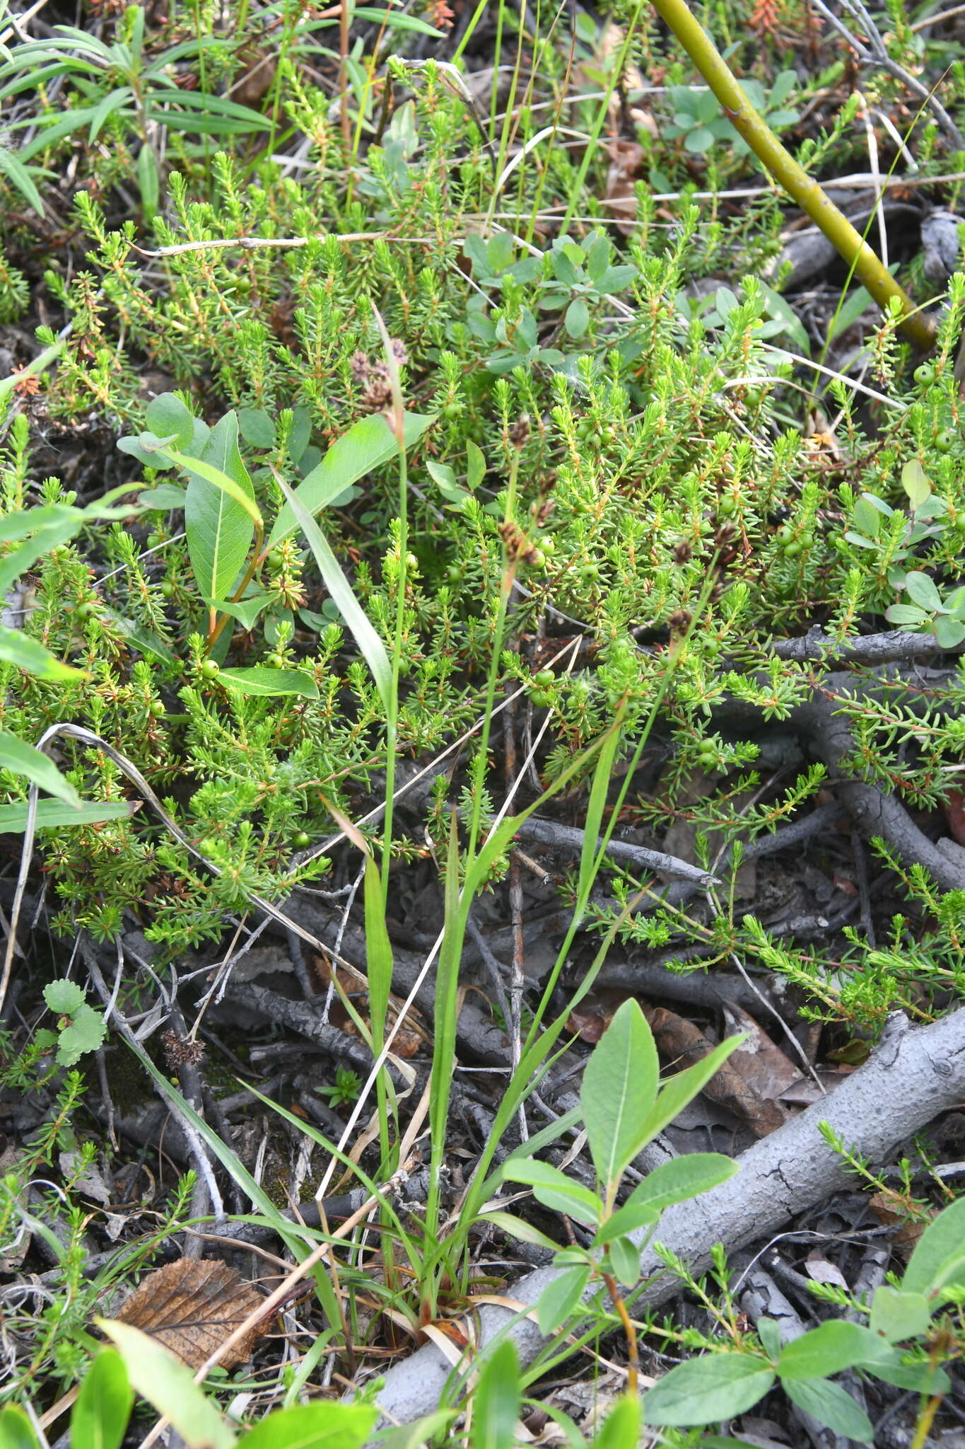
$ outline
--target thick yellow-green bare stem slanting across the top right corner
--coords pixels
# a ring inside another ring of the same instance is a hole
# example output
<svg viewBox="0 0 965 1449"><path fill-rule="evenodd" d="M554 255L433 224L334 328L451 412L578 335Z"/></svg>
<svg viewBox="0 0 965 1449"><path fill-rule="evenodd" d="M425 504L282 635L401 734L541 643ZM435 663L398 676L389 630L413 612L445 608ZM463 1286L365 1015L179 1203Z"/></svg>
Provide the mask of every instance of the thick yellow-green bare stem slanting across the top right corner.
<svg viewBox="0 0 965 1449"><path fill-rule="evenodd" d="M855 230L846 216L838 210L817 181L807 175L777 139L764 117L754 109L734 71L729 68L700 22L690 13L686 0L654 0L654 9L664 20L684 51L697 67L705 81L720 101L723 114L734 129L787 191L829 242L852 264L855 275L865 284L880 307L897 298L901 307L901 330L922 352L935 345L935 323L923 316L897 284L881 258L875 256L868 243ZM567 213L569 216L569 213Z"/></svg>

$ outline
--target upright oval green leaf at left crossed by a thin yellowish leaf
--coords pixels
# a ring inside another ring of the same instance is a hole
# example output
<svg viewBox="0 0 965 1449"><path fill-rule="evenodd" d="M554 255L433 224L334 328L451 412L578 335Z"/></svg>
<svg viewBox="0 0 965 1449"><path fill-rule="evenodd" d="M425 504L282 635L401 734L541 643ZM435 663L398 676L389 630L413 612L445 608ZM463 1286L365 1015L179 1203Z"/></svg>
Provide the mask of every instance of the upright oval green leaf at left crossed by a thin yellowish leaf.
<svg viewBox="0 0 965 1449"><path fill-rule="evenodd" d="M237 446L236 414L226 413L211 429L200 462L175 449L168 449L168 456L188 472L184 527L198 590L205 598L226 598L260 526Z"/></svg>

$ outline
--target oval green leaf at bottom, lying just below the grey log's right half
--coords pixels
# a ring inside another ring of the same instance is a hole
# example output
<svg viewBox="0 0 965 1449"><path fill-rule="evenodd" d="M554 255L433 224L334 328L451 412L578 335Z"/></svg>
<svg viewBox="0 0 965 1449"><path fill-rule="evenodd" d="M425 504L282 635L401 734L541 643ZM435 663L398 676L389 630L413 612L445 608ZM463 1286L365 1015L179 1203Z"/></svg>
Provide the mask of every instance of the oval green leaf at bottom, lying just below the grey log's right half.
<svg viewBox="0 0 965 1449"><path fill-rule="evenodd" d="M748 1353L709 1353L671 1368L644 1394L644 1423L689 1429L754 1408L774 1374Z"/></svg>

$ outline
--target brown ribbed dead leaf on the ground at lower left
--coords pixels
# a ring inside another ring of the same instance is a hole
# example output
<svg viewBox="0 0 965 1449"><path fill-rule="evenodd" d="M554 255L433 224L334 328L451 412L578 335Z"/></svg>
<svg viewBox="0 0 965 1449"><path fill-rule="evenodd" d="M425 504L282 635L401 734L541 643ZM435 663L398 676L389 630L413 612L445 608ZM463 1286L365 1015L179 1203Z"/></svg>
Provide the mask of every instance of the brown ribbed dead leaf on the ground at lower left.
<svg viewBox="0 0 965 1449"><path fill-rule="evenodd" d="M201 1368L262 1301L250 1282L227 1264L181 1258L148 1274L117 1319L150 1333L190 1368ZM221 1359L223 1366L236 1368L243 1364L269 1321L271 1319L265 1319L258 1323L229 1349Z"/></svg>

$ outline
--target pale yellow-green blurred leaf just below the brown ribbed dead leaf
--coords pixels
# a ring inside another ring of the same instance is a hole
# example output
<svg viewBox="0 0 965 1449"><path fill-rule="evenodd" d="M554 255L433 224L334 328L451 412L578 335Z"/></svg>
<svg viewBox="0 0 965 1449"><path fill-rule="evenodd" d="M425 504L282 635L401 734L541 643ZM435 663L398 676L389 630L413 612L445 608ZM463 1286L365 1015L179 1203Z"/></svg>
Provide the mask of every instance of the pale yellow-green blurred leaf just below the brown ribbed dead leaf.
<svg viewBox="0 0 965 1449"><path fill-rule="evenodd" d="M190 1449L234 1449L234 1433L182 1359L130 1323L94 1321L120 1350L132 1387L171 1420Z"/></svg>

